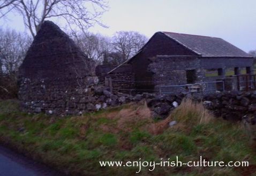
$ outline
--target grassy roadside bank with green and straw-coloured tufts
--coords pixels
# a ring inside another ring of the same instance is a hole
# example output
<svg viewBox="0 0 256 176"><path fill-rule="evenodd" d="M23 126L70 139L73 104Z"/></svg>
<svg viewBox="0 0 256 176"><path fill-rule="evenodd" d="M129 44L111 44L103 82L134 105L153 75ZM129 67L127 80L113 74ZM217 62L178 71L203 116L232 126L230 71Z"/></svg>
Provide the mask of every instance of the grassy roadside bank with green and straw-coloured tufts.
<svg viewBox="0 0 256 176"><path fill-rule="evenodd" d="M168 127L170 121L177 125ZM77 175L134 175L138 167L101 167L99 161L249 161L249 167L160 167L142 175L250 175L255 144L238 123L214 119L201 105L183 102L164 121L143 102L84 116L28 115L16 100L0 102L0 140L35 159Z"/></svg>

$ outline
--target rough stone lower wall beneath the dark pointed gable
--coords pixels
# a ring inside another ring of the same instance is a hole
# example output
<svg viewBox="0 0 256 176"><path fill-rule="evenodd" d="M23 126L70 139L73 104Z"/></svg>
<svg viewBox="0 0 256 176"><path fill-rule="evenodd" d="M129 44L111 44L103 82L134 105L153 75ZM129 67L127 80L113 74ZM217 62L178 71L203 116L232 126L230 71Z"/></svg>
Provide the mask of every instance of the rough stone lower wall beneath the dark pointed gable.
<svg viewBox="0 0 256 176"><path fill-rule="evenodd" d="M80 82L77 84L77 82ZM97 77L20 80L21 108L30 113L78 114L95 110ZM102 106L102 105L101 105Z"/></svg>

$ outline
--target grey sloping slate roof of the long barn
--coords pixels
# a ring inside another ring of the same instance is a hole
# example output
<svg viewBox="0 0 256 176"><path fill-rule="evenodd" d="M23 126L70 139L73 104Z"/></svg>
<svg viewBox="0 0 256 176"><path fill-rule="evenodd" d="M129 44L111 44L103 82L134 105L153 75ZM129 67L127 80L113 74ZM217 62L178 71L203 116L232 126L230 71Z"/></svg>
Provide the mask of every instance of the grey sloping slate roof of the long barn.
<svg viewBox="0 0 256 176"><path fill-rule="evenodd" d="M202 57L250 57L222 38L161 32Z"/></svg>

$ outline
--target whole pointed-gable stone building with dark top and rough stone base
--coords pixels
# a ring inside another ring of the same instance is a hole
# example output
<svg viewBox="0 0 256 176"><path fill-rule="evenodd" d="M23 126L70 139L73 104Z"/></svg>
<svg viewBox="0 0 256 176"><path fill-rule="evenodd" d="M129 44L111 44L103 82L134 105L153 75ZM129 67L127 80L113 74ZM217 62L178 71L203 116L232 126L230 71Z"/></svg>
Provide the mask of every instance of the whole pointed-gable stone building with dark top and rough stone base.
<svg viewBox="0 0 256 176"><path fill-rule="evenodd" d="M86 104L97 83L94 63L58 26L45 21L19 69L19 99L27 111L74 114Z"/></svg>

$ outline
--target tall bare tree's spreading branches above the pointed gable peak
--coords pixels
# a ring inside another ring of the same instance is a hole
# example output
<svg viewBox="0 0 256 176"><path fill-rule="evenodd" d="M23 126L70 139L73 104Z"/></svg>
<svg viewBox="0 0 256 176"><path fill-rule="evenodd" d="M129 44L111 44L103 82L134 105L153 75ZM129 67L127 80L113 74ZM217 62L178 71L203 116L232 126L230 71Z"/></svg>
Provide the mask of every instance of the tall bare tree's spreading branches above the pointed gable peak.
<svg viewBox="0 0 256 176"><path fill-rule="evenodd" d="M77 26L82 31L99 24L104 26L101 15L108 9L104 0L5 0L6 11L22 15L25 26L35 37L43 21L47 19L62 19L70 28ZM6 14L3 12L2 14Z"/></svg>

